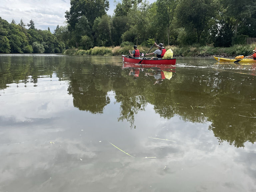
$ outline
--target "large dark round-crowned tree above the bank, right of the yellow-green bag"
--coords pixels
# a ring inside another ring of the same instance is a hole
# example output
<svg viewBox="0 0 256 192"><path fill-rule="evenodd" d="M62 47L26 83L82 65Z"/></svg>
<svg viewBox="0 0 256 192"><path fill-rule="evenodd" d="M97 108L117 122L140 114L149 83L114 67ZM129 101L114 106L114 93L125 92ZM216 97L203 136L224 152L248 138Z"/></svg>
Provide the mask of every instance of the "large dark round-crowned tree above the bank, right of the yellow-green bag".
<svg viewBox="0 0 256 192"><path fill-rule="evenodd" d="M177 6L176 17L181 27L195 32L197 43L203 32L208 32L210 20L219 9L217 0L181 0Z"/></svg>

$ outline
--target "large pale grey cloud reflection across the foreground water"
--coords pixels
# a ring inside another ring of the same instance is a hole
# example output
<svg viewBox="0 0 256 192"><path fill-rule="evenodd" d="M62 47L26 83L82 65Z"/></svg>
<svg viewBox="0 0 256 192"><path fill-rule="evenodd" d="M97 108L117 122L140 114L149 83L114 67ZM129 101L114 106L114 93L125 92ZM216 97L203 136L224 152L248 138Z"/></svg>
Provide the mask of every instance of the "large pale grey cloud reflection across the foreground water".
<svg viewBox="0 0 256 192"><path fill-rule="evenodd" d="M153 113L139 112L137 118L145 114L154 118L157 114ZM98 118L104 121L107 117L103 114ZM93 122L95 127L101 126L93 118L87 121L89 125ZM227 143L218 145L211 131L180 121L178 117L169 121L140 122L136 130L130 130L127 125L122 133L130 134L123 135L123 141L115 140L115 137L121 138L119 122L112 124L115 132L109 129L102 142L96 136L98 129L74 130L81 136L73 138L72 127L53 127L56 124L48 124L47 129L44 125L37 129L17 126L12 131L6 125L1 129L1 136L8 138L10 144L0 145L0 153L6 157L1 160L0 178L4 179L0 180L0 190L70 191L72 188L74 191L139 192L174 188L187 191L189 188L191 191L249 191L255 186L255 176L248 174L246 164L235 160L243 149ZM52 132L55 129L59 131ZM148 138L154 134L177 142ZM116 146L129 150L127 152L136 157L129 157L107 140L114 140ZM145 156L157 158L142 159ZM19 185L21 183L23 185Z"/></svg>

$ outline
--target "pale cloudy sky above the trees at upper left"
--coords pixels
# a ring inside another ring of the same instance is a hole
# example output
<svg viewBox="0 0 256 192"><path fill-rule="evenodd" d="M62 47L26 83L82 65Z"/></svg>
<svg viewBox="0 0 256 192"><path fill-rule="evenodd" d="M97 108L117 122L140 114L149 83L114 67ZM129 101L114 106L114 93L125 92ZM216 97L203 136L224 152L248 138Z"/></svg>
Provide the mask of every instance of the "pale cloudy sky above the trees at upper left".
<svg viewBox="0 0 256 192"><path fill-rule="evenodd" d="M109 4L107 14L112 15L115 9L114 0L109 0ZM22 18L27 24L32 19L37 29L45 30L50 27L53 32L57 25L64 25L65 11L69 8L69 0L1 0L0 17L9 23L12 19L19 23Z"/></svg>

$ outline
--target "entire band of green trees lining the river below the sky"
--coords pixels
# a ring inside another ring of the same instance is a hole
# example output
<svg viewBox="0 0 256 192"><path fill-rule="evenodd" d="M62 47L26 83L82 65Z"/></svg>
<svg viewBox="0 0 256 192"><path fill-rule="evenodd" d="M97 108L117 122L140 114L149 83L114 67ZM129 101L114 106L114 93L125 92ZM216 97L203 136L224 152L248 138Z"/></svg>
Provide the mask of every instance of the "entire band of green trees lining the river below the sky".
<svg viewBox="0 0 256 192"><path fill-rule="evenodd" d="M70 1L66 24L52 34L37 30L31 20L10 24L0 19L0 52L61 53L71 47L212 45L230 47L256 37L255 0L142 0L115 1L112 16L108 0Z"/></svg>

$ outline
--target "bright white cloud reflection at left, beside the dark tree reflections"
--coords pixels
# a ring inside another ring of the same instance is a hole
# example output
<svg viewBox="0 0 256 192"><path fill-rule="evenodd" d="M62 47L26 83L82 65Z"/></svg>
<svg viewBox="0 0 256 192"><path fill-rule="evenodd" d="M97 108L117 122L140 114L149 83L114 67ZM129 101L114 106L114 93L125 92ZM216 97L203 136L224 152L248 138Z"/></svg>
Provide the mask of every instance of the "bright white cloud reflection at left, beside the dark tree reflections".
<svg viewBox="0 0 256 192"><path fill-rule="evenodd" d="M16 121L26 121L31 118L49 118L54 113L73 108L72 96L67 94L67 84L60 83L55 75L39 81L36 89L32 84L24 87L20 83L19 88L11 84L1 96L4 102L1 102L0 116L14 116Z"/></svg>

